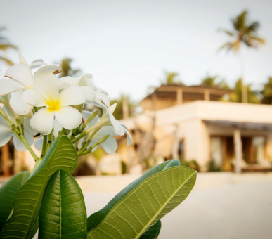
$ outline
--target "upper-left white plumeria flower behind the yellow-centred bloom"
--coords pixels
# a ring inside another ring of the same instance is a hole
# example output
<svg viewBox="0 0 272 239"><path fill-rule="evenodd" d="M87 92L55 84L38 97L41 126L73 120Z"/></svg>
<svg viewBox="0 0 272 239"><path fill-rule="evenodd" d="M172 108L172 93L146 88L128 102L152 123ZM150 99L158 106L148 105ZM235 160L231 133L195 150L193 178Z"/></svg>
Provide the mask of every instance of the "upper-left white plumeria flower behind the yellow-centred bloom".
<svg viewBox="0 0 272 239"><path fill-rule="evenodd" d="M13 110L18 115L27 115L30 110L32 110L32 105L22 101L22 91L33 89L34 82L37 78L41 77L46 80L48 77L51 77L51 75L61 72L61 69L58 65L44 65L33 75L31 67L27 64L25 58L21 55L19 58L20 64L15 64L6 71L5 76L10 79L0 79L0 96L12 93L10 105ZM33 65L34 63L37 65ZM32 66L39 66L41 65L41 60L37 60L37 62L34 63Z"/></svg>

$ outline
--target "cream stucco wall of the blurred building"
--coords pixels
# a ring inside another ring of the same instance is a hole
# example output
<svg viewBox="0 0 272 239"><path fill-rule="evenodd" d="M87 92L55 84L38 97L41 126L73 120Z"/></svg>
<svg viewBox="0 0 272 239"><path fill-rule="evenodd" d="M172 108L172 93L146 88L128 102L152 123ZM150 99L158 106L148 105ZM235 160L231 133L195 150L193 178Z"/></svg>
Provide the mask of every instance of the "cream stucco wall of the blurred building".
<svg viewBox="0 0 272 239"><path fill-rule="evenodd" d="M184 138L186 160L197 160L205 166L210 157L210 135L233 136L234 128L208 125L203 120L225 120L272 124L272 106L219 101L193 101L157 110L156 123L160 129L179 125ZM268 139L267 153L272 158L272 132L244 130L242 136L263 135ZM171 147L170 145L165 147Z"/></svg>

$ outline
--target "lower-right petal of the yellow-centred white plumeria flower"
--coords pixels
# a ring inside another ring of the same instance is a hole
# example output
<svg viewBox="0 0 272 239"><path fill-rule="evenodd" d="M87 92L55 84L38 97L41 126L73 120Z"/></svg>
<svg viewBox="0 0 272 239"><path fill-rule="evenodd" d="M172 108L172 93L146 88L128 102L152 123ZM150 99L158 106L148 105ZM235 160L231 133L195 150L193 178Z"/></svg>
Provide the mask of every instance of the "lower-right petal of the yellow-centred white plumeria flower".
<svg viewBox="0 0 272 239"><path fill-rule="evenodd" d="M65 129L75 129L82 122L82 114L70 106L63 106L55 112L56 120Z"/></svg>

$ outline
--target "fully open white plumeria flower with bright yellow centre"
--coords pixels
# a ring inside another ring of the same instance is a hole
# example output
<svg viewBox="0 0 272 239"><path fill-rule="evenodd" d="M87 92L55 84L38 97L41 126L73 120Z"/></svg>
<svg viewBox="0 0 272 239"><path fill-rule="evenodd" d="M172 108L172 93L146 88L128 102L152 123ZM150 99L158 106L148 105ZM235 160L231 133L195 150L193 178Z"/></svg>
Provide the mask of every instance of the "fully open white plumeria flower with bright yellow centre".
<svg viewBox="0 0 272 239"><path fill-rule="evenodd" d="M75 129L82 122L81 113L70 105L81 105L86 96L79 86L72 85L59 93L58 79L39 78L34 88L25 91L22 99L40 108L30 120L33 129L41 134L50 134L54 119L65 129Z"/></svg>

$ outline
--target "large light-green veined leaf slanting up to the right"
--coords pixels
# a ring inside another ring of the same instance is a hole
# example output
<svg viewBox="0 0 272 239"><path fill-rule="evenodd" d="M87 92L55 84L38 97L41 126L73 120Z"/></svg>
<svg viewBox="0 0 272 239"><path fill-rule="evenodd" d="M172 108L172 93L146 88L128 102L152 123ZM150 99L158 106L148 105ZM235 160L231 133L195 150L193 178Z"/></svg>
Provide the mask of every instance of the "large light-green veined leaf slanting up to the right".
<svg viewBox="0 0 272 239"><path fill-rule="evenodd" d="M196 172L170 167L145 179L112 207L87 238L140 238L165 214L171 212L195 185Z"/></svg>

